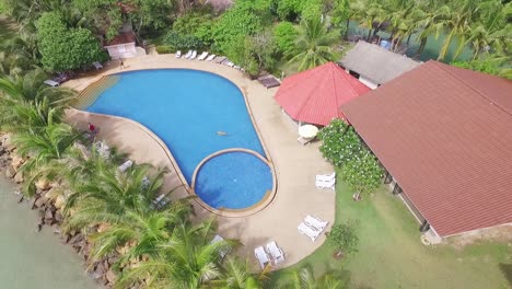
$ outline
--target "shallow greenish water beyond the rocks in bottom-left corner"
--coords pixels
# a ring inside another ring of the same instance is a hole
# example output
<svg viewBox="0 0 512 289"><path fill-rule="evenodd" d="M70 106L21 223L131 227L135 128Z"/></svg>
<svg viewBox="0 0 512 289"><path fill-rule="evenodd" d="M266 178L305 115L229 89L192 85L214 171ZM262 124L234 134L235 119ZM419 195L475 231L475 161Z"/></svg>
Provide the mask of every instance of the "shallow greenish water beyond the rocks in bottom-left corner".
<svg viewBox="0 0 512 289"><path fill-rule="evenodd" d="M35 231L36 211L16 204L13 186L0 177L0 288L101 288L84 271L80 256L51 229Z"/></svg>

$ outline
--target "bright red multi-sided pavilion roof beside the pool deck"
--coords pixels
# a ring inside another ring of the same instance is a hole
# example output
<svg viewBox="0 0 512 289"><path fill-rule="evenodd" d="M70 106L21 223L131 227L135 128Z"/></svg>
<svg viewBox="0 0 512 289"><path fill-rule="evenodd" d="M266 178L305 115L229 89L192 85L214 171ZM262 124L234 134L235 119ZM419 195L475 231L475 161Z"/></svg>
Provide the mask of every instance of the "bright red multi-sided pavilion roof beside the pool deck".
<svg viewBox="0 0 512 289"><path fill-rule="evenodd" d="M333 118L344 118L340 105L368 91L359 80L328 62L286 78L275 97L293 119L325 126Z"/></svg>

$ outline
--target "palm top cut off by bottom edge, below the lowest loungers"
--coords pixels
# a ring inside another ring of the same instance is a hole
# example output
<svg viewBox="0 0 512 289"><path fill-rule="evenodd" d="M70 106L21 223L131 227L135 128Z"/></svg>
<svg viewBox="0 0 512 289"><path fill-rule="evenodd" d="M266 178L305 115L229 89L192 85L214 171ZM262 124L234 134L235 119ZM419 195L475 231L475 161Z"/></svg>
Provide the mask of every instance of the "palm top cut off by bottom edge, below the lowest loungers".
<svg viewBox="0 0 512 289"><path fill-rule="evenodd" d="M344 287L342 279L331 274L325 274L316 279L309 266L290 270L278 281L280 289L341 289Z"/></svg>

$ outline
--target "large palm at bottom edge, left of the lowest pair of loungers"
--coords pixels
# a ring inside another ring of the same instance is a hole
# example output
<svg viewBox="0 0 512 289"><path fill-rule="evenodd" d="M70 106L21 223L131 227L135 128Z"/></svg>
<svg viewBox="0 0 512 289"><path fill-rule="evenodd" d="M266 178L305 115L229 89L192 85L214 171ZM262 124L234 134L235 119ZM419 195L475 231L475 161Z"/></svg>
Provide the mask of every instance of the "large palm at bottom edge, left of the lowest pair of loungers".
<svg viewBox="0 0 512 289"><path fill-rule="evenodd" d="M222 255L240 243L223 240L211 243L217 224L213 219L191 226L178 223L160 254L125 269L116 288L144 280L147 288L206 288L222 278Z"/></svg>

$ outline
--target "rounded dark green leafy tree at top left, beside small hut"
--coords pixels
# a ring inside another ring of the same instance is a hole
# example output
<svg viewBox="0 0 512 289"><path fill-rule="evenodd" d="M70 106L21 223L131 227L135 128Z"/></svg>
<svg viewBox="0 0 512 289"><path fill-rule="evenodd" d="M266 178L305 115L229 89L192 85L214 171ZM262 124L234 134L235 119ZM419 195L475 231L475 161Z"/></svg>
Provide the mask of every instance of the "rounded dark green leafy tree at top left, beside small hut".
<svg viewBox="0 0 512 289"><path fill-rule="evenodd" d="M60 15L45 13L37 21L37 41L46 70L62 71L90 65L102 50L91 31L68 28Z"/></svg>

